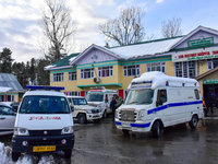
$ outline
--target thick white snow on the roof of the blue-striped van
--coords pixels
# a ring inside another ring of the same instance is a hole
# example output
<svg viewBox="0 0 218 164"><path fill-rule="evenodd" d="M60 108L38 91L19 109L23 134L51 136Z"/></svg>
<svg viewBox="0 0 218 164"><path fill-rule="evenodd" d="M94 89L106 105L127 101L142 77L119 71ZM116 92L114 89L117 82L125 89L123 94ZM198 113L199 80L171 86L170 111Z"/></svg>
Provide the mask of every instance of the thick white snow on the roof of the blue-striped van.
<svg viewBox="0 0 218 164"><path fill-rule="evenodd" d="M195 83L196 86L199 86L198 82L195 79L169 77L159 71L145 72L140 78L135 78L132 80L132 82L136 83L143 81L152 81L152 89L155 89L157 86L166 86L166 82L168 82L169 86L183 86L183 84L184 86L195 86ZM131 85L129 85L129 89Z"/></svg>

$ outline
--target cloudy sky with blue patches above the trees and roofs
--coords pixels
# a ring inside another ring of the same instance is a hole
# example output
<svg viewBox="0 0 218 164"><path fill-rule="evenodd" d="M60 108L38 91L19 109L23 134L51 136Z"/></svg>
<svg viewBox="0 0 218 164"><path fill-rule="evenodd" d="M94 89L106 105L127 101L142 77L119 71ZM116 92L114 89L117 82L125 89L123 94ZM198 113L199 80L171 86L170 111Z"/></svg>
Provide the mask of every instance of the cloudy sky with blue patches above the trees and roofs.
<svg viewBox="0 0 218 164"><path fill-rule="evenodd" d="M41 1L0 0L0 51L10 48L16 62L41 57ZM78 22L72 52L92 44L104 46L98 24L117 17L120 9L130 5L141 5L146 11L145 38L152 34L161 38L161 22L173 16L182 19L183 35L199 25L218 30L218 0L68 0L68 4Z"/></svg>

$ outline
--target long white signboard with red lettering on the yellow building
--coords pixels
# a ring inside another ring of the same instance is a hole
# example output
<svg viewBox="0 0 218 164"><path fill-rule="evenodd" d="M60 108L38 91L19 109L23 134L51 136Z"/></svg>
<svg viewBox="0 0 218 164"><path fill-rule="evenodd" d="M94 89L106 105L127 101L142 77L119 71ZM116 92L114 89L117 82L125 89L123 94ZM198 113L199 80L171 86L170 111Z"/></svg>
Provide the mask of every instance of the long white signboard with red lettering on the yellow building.
<svg viewBox="0 0 218 164"><path fill-rule="evenodd" d="M215 49L198 49L172 54L172 62L203 60L218 58L218 48Z"/></svg>

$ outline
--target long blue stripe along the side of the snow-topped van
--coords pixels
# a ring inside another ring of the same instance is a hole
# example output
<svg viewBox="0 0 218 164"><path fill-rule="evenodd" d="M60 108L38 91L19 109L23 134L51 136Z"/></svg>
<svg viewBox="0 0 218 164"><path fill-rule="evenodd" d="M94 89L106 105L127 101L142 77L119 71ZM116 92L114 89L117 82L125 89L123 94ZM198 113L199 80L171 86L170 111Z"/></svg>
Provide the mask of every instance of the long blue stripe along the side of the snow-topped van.
<svg viewBox="0 0 218 164"><path fill-rule="evenodd" d="M184 102L184 103L170 103L170 104L162 105L160 107L147 110L147 115L150 115L153 113L157 113L157 112L164 110L164 109L168 108L168 106L175 107L175 106L186 106L186 105L194 105L194 104L202 104L202 103L203 103L203 101Z"/></svg>

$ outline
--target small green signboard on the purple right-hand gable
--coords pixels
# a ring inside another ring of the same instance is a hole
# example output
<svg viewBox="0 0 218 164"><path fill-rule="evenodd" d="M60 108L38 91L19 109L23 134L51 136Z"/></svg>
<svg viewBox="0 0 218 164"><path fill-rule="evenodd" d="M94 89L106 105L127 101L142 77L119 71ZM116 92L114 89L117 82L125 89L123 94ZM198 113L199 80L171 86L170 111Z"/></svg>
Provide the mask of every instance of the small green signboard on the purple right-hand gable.
<svg viewBox="0 0 218 164"><path fill-rule="evenodd" d="M197 47L203 45L210 45L214 44L214 37L206 37L206 38L199 38L199 39L193 39L187 42L187 47Z"/></svg>

